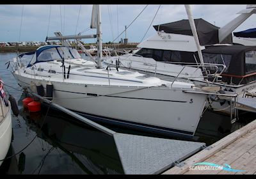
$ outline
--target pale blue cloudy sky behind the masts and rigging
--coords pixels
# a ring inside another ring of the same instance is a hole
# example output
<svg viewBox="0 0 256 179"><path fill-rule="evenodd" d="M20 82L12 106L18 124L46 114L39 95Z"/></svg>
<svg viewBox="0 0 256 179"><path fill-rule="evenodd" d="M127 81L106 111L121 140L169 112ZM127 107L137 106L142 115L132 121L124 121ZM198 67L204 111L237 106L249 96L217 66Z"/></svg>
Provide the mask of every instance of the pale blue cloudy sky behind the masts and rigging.
<svg viewBox="0 0 256 179"><path fill-rule="evenodd" d="M63 35L74 35L75 33L83 32L90 27L92 15L92 5L90 4L25 4L23 16L22 6L23 5L21 4L0 5L0 42L17 42L19 40L44 41L47 35L54 36L53 33L56 31L61 31ZM81 12L79 14L80 6ZM125 25L128 26L144 7L145 4L102 5L103 42L109 42L115 39L118 36L118 33L124 31ZM129 38L129 42L141 41L141 38L145 35L148 26L156 15L158 7L159 4L149 4L144 12L141 13L140 17L138 17L129 29L127 29L127 38ZM237 17L238 14L236 13L245 8L245 4L191 5L194 19L202 18L218 27L224 26L230 20ZM182 19L188 19L183 4L163 4L152 25L164 24ZM252 15L243 22L241 26L237 27L235 31L243 31L255 27L256 16ZM89 29L82 34L95 34L95 31L95 29ZM154 30L154 27L151 26L145 38L154 35L154 33L156 33L156 31ZM120 36L120 38L124 38L124 36L125 34ZM94 39L84 41L87 43L95 42Z"/></svg>

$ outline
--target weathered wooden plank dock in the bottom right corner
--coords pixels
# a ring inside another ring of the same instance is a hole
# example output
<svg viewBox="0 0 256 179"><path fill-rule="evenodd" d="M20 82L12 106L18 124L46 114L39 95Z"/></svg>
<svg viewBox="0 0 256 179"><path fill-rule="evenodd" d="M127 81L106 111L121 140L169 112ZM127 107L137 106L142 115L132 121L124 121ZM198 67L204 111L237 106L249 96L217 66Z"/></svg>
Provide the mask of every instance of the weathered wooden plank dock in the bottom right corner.
<svg viewBox="0 0 256 179"><path fill-rule="evenodd" d="M207 149L196 153L187 160L182 167L172 167L163 174L214 174L214 175L243 175L256 174L256 120L212 144ZM232 169L245 171L225 170L189 170L189 166L198 162L211 162L223 166L228 164Z"/></svg>

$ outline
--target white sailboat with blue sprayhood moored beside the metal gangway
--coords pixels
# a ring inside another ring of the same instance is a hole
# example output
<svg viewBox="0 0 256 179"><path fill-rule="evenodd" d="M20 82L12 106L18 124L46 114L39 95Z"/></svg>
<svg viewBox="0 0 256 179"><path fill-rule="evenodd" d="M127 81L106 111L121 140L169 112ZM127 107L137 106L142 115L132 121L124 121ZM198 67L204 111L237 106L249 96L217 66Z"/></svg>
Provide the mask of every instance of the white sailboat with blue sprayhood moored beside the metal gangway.
<svg viewBox="0 0 256 179"><path fill-rule="evenodd" d="M193 136L207 93L189 82L163 81L138 72L102 66L100 7L93 5L97 22L97 63L81 58L76 49L45 45L28 65L14 59L13 75L23 88L53 85L52 102L96 121L143 128L163 134ZM93 19L92 18L92 19ZM92 23L92 24L93 24ZM95 25L95 24L94 24ZM65 36L56 39L65 39Z"/></svg>

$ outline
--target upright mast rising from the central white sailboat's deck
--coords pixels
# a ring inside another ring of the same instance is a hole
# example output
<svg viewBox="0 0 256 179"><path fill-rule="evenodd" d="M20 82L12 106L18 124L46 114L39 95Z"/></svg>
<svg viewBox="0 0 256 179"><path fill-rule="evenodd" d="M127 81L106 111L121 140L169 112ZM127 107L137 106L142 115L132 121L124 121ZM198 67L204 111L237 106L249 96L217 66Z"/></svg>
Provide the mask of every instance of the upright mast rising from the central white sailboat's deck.
<svg viewBox="0 0 256 179"><path fill-rule="evenodd" d="M97 20L97 44L98 44L98 50L97 50L97 68L102 67L102 32L101 32L101 13L100 13L100 4L98 5L98 20Z"/></svg>

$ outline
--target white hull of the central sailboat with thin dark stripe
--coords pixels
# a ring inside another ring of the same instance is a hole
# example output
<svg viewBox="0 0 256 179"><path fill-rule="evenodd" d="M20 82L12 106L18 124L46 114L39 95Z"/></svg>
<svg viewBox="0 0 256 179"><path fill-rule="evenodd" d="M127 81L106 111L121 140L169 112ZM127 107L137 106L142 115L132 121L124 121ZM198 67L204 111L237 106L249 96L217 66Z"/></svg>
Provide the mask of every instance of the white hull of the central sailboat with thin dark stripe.
<svg viewBox="0 0 256 179"><path fill-rule="evenodd" d="M15 74L26 88L31 79ZM205 105L205 97L179 88L131 87L54 82L52 102L96 120L142 127L171 134L193 136ZM185 113L186 111L186 113Z"/></svg>

